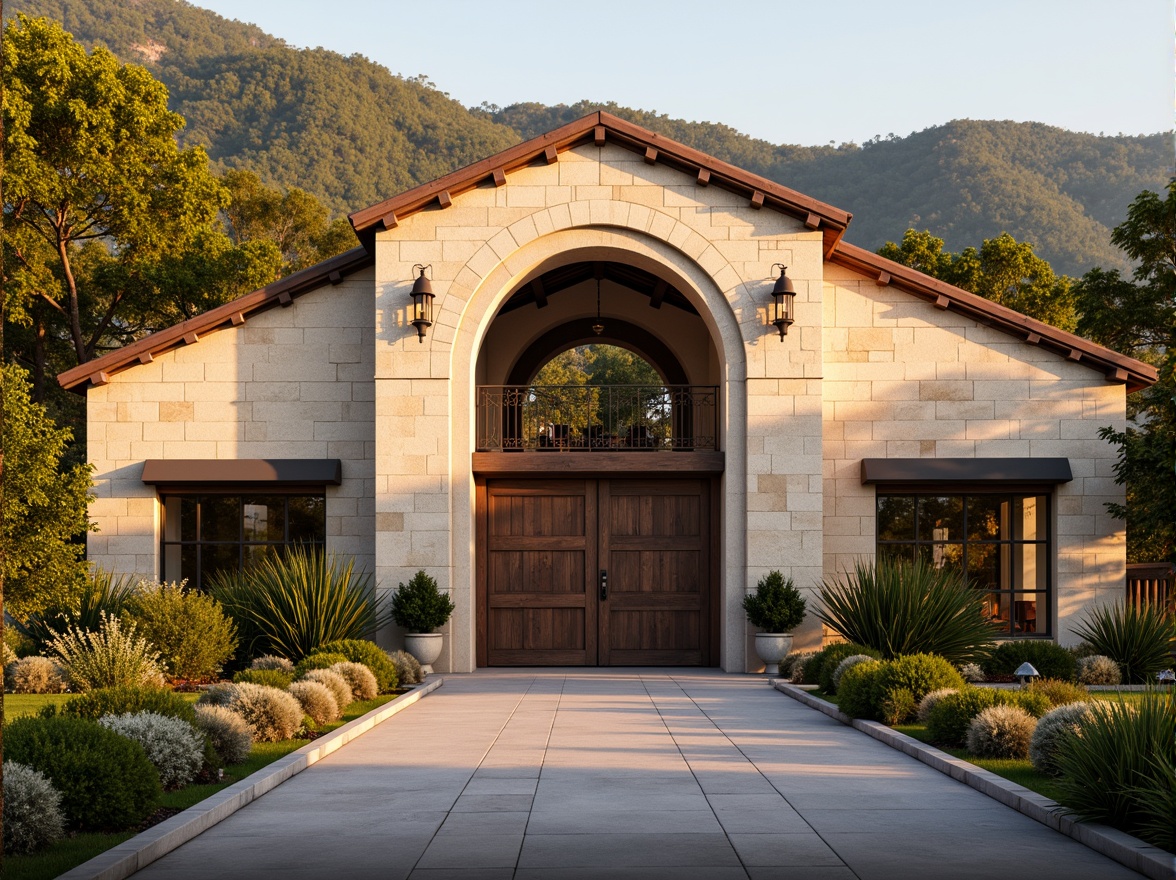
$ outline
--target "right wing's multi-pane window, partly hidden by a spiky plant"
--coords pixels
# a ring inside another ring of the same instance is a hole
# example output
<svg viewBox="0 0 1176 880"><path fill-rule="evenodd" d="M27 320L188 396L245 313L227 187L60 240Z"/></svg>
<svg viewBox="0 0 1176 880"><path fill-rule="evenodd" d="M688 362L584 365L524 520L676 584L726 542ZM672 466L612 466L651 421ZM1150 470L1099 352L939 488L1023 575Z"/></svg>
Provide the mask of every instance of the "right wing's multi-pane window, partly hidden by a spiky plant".
<svg viewBox="0 0 1176 880"><path fill-rule="evenodd" d="M1004 634L1049 635L1048 494L878 492L878 559L916 558L964 574Z"/></svg>

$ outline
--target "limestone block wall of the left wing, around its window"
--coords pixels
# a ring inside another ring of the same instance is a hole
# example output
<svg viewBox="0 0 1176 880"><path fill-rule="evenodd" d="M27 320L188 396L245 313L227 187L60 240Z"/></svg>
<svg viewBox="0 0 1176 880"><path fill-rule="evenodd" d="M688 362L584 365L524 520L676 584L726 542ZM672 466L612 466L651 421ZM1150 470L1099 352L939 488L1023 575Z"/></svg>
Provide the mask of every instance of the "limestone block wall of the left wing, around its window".
<svg viewBox="0 0 1176 880"><path fill-rule="evenodd" d="M88 558L159 576L159 502L147 459L334 458L327 546L374 571L373 271L250 315L88 391L94 465Z"/></svg>

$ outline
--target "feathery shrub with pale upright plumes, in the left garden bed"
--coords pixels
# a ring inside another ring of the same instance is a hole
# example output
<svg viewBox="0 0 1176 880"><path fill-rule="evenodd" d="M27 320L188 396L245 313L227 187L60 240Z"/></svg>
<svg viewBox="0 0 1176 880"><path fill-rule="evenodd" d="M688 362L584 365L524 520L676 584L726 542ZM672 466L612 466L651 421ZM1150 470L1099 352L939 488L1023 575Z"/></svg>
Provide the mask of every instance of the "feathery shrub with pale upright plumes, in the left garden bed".
<svg viewBox="0 0 1176 880"><path fill-rule="evenodd" d="M156 660L159 652L135 634L135 625L123 629L118 618L102 612L98 632L69 629L49 642L54 655L76 691L99 687L151 687L163 684Z"/></svg>

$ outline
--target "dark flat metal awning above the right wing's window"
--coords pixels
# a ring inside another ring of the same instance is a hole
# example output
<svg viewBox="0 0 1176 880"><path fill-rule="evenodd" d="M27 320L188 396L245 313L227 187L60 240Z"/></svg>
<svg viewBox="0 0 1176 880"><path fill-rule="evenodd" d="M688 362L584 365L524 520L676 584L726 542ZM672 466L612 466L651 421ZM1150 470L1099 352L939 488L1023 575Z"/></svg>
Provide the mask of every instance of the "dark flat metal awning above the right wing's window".
<svg viewBox="0 0 1176 880"><path fill-rule="evenodd" d="M1070 482L1069 459L862 459L862 485Z"/></svg>

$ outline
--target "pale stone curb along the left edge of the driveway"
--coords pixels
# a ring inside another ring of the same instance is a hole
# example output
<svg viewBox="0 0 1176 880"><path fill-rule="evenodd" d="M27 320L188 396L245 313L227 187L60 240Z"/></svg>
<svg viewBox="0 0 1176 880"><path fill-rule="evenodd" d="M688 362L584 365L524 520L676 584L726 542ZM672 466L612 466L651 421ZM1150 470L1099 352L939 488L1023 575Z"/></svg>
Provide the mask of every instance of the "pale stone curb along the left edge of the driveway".
<svg viewBox="0 0 1176 880"><path fill-rule="evenodd" d="M395 700L389 700L366 715L348 721L339 729L306 744L296 752L290 752L272 764L267 764L256 773L234 782L228 788L223 788L171 819L136 834L131 840L111 847L89 861L71 868L60 874L58 880L122 880L131 876L140 868L147 867L156 859L167 855L221 820L233 815L266 792L273 791L287 779L318 764L332 752L336 752L352 740L362 736L381 721L387 721L397 712L419 702L422 696L433 693L443 682L445 679L436 678Z"/></svg>

